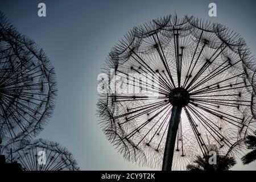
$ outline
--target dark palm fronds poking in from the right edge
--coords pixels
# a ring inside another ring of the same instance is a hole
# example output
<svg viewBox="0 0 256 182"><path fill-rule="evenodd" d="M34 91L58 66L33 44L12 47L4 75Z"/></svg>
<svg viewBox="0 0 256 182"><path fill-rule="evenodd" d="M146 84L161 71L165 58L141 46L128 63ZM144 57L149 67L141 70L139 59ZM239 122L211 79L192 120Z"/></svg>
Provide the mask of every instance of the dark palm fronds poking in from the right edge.
<svg viewBox="0 0 256 182"><path fill-rule="evenodd" d="M247 144L247 149L252 151L242 157L242 162L243 164L249 164L256 160L256 131L254 135L246 136L245 143Z"/></svg>

